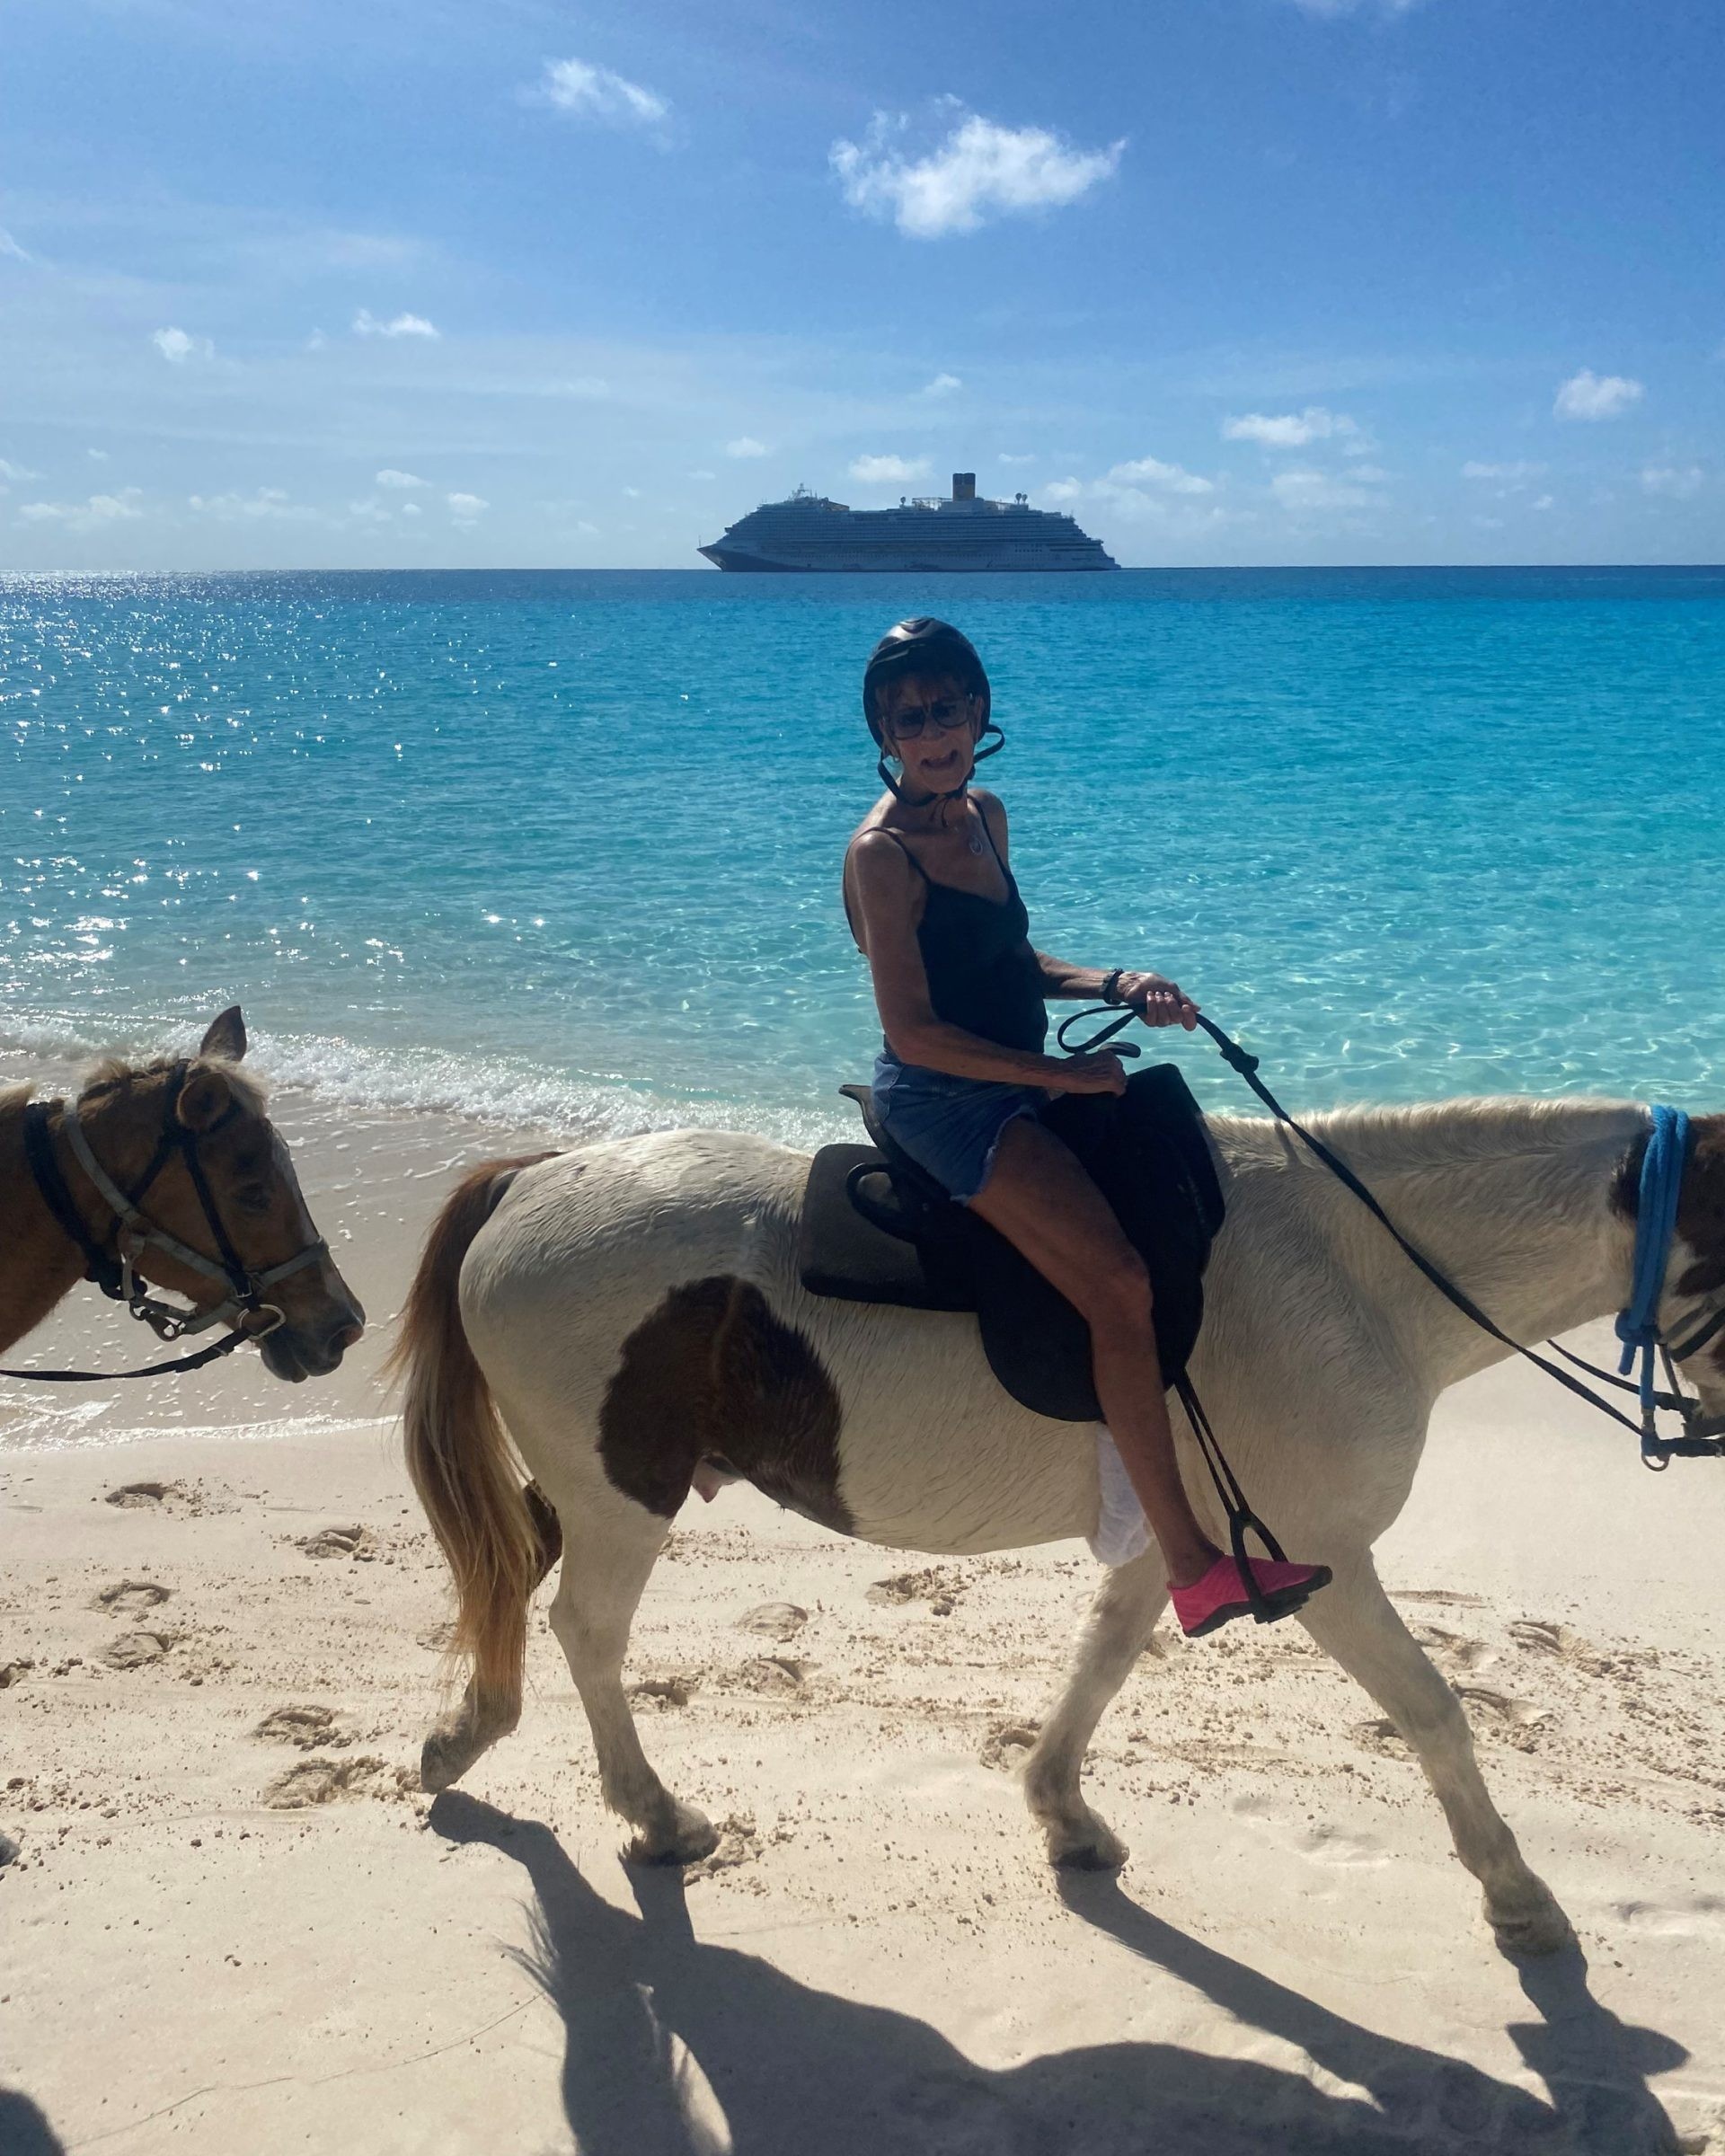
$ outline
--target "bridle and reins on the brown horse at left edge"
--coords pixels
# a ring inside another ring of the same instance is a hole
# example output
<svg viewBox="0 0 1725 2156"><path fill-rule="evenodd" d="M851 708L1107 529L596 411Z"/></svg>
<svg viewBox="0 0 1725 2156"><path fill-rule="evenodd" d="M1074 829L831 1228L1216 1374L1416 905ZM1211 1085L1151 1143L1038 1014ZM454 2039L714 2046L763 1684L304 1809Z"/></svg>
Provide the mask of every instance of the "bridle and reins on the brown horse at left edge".
<svg viewBox="0 0 1725 2156"><path fill-rule="evenodd" d="M149 1156L144 1173L136 1184L132 1184L129 1190L123 1190L95 1158L78 1115L78 1100L32 1100L28 1104L24 1110L24 1158L30 1164L30 1175L34 1177L43 1205L47 1205L67 1240L82 1253L84 1279L95 1281L110 1302L123 1302L125 1309L147 1324L162 1341L177 1341L188 1332L205 1332L209 1326L224 1322L233 1324L235 1330L231 1330L226 1339L216 1341L211 1348L201 1348L196 1354L177 1356L170 1363L147 1363L142 1369L0 1369L0 1378L24 1378L37 1384L97 1384L110 1378L155 1378L179 1369L201 1369L205 1363L213 1363L218 1356L233 1354L235 1348L244 1348L246 1341L267 1339L270 1332L287 1324L287 1315L274 1302L263 1300L263 1291L274 1287L278 1281L289 1279L289 1274L302 1272L306 1266L321 1263L330 1255L328 1242L319 1235L302 1250L295 1250L293 1257L285 1259L280 1266L265 1266L261 1272L252 1272L246 1266L239 1250L233 1246L233 1238L222 1220L222 1210L216 1203L216 1192L209 1188L209 1177L205 1175L203 1160L198 1158L201 1136L211 1138L218 1130L226 1130L226 1125L239 1115L239 1104L229 1102L209 1130L190 1130L179 1119L179 1095L185 1091L190 1069L192 1065L181 1059L168 1072L162 1130L155 1138L155 1151ZM60 1162L54 1158L50 1119L56 1108L63 1110L60 1123L73 1160L114 1216L101 1238L91 1235L84 1225L84 1214L78 1210L71 1188L60 1173ZM192 1190L196 1192L203 1210L205 1227L216 1244L216 1257L194 1250L177 1235L170 1235L164 1227L157 1227L149 1214L138 1210L151 1186L175 1158L185 1162L185 1173L192 1179ZM138 1259L147 1248L164 1250L190 1272L198 1272L209 1281L220 1281L226 1287L226 1296L220 1302L213 1302L207 1311L188 1311L172 1302L162 1302L157 1296L147 1291L147 1283L138 1274ZM242 1315L265 1317L267 1322L242 1330Z"/></svg>

